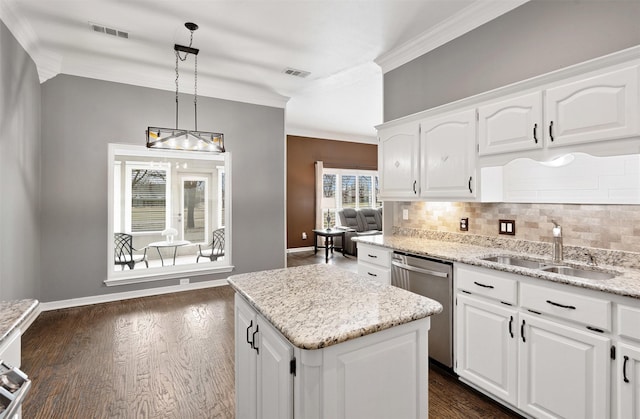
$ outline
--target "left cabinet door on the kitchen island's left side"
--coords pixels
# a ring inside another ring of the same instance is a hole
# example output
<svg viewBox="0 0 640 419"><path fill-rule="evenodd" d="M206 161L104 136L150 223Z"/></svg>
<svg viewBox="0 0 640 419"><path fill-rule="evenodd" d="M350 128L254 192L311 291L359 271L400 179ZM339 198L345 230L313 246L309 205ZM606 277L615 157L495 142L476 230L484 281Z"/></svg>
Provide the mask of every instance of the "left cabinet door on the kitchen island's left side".
<svg viewBox="0 0 640 419"><path fill-rule="evenodd" d="M256 418L257 353L251 347L256 331L255 311L235 295L236 417Z"/></svg>

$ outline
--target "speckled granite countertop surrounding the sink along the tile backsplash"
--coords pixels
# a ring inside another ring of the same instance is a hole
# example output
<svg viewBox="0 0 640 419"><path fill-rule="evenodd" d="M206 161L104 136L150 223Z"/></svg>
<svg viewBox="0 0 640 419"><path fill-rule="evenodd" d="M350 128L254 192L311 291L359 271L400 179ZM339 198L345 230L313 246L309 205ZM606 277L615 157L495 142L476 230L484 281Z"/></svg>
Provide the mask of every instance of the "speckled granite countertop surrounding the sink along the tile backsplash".
<svg viewBox="0 0 640 419"><path fill-rule="evenodd" d="M611 279L592 280L573 276L545 272L538 269L528 269L517 266L505 265L497 262L489 262L482 258L510 255L524 259L545 261L551 264L550 253L540 252L540 245L536 242L514 242L512 247L500 247L493 245L490 238L484 238L487 245L464 243L463 241L434 240L424 237L412 237L404 235L363 236L355 240L362 243L373 244L393 250L417 255L429 256L437 259L445 259L453 262L461 262L468 265L482 266L504 272L511 272L542 280L558 282L578 286L582 288L617 294L625 297L640 299L640 269L634 269L618 263L615 257L598 258L598 266L593 267L587 263L565 258L562 265L586 270L601 270L615 274ZM523 244L524 243L524 244ZM543 244L543 245L546 245ZM547 250L546 247L544 250ZM603 255L607 253L602 252Z"/></svg>

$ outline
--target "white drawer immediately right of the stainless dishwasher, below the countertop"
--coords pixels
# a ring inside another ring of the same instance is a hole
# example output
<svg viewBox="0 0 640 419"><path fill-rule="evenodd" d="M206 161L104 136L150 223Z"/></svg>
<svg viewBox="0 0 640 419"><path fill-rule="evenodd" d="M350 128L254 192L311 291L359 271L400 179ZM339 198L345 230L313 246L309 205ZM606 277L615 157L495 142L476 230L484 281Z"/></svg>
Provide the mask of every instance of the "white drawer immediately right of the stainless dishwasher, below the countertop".
<svg viewBox="0 0 640 419"><path fill-rule="evenodd" d="M500 272L460 268L457 270L458 289L515 305L518 282Z"/></svg>

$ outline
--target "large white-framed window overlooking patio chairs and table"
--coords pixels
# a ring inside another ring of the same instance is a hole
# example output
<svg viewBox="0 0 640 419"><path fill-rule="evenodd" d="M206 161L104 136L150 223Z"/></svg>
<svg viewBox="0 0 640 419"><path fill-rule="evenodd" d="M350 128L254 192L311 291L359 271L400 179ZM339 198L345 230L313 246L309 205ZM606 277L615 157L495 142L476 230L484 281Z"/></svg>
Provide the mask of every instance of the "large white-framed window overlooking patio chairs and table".
<svg viewBox="0 0 640 419"><path fill-rule="evenodd" d="M230 187L229 162L229 153L110 144L110 245L105 283L231 271L231 212L225 198ZM224 240L219 240L223 249L211 257L206 251L211 249L216 230L223 232ZM130 236L136 249L131 253L139 259L131 266L118 263L123 236L126 240Z"/></svg>

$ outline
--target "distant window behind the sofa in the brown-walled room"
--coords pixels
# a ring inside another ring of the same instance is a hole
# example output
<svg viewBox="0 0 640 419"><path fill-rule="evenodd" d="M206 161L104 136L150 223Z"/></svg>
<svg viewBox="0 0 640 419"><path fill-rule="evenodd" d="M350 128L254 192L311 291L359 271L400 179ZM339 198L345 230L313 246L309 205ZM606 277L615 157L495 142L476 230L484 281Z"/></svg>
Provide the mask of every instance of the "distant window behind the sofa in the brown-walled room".
<svg viewBox="0 0 640 419"><path fill-rule="evenodd" d="M322 172L322 222L324 228L338 224L337 211L342 208L377 208L378 172L373 170L324 169ZM329 221L327 221L327 214Z"/></svg>

